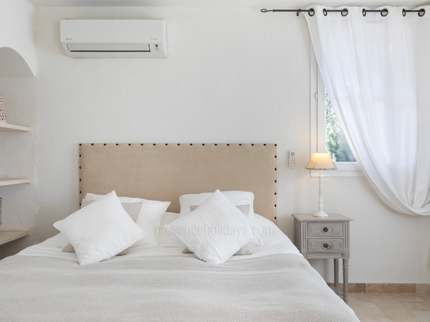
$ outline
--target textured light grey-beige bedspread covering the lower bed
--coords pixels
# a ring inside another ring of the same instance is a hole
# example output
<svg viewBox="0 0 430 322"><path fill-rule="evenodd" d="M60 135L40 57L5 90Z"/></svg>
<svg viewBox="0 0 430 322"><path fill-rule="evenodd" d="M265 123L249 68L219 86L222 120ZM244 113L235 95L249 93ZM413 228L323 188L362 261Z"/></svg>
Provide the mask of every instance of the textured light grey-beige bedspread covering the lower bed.
<svg viewBox="0 0 430 322"><path fill-rule="evenodd" d="M194 256L116 256L80 266L0 261L0 321L358 322L301 256L211 265Z"/></svg>

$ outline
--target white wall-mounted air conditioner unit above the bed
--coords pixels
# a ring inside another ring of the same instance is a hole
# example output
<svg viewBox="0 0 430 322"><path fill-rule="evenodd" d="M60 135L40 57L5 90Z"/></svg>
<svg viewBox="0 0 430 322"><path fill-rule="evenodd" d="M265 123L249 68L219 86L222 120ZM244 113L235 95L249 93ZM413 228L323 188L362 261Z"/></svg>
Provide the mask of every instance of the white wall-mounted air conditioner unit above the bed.
<svg viewBox="0 0 430 322"><path fill-rule="evenodd" d="M164 19L61 19L70 57L167 57Z"/></svg>

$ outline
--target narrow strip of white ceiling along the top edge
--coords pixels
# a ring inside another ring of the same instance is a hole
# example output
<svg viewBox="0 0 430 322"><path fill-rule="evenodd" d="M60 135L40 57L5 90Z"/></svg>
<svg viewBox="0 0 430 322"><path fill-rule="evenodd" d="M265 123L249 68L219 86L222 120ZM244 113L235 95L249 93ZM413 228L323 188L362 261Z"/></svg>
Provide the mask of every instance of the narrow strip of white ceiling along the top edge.
<svg viewBox="0 0 430 322"><path fill-rule="evenodd" d="M258 7L267 9L304 8L315 4L312 0L28 0L35 6L139 6L139 7L206 7L206 8L245 8ZM410 6L416 7L424 3L420 0L323 0L326 6Z"/></svg>

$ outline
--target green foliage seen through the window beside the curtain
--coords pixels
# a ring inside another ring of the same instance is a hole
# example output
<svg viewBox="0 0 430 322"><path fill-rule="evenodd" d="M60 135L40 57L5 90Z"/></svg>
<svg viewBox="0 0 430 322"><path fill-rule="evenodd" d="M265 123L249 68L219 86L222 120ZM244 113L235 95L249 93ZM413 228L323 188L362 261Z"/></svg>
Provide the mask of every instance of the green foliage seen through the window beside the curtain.
<svg viewBox="0 0 430 322"><path fill-rule="evenodd" d="M326 98L326 151L335 162L355 162L329 98Z"/></svg>

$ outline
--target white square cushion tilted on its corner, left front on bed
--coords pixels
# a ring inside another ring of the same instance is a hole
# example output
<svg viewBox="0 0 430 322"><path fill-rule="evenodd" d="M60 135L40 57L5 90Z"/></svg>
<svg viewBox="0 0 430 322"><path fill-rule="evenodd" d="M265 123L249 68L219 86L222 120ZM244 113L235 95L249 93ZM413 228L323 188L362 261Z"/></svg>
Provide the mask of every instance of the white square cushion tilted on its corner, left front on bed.
<svg viewBox="0 0 430 322"><path fill-rule="evenodd" d="M54 223L74 247L80 265L104 261L146 233L133 222L115 191Z"/></svg>

